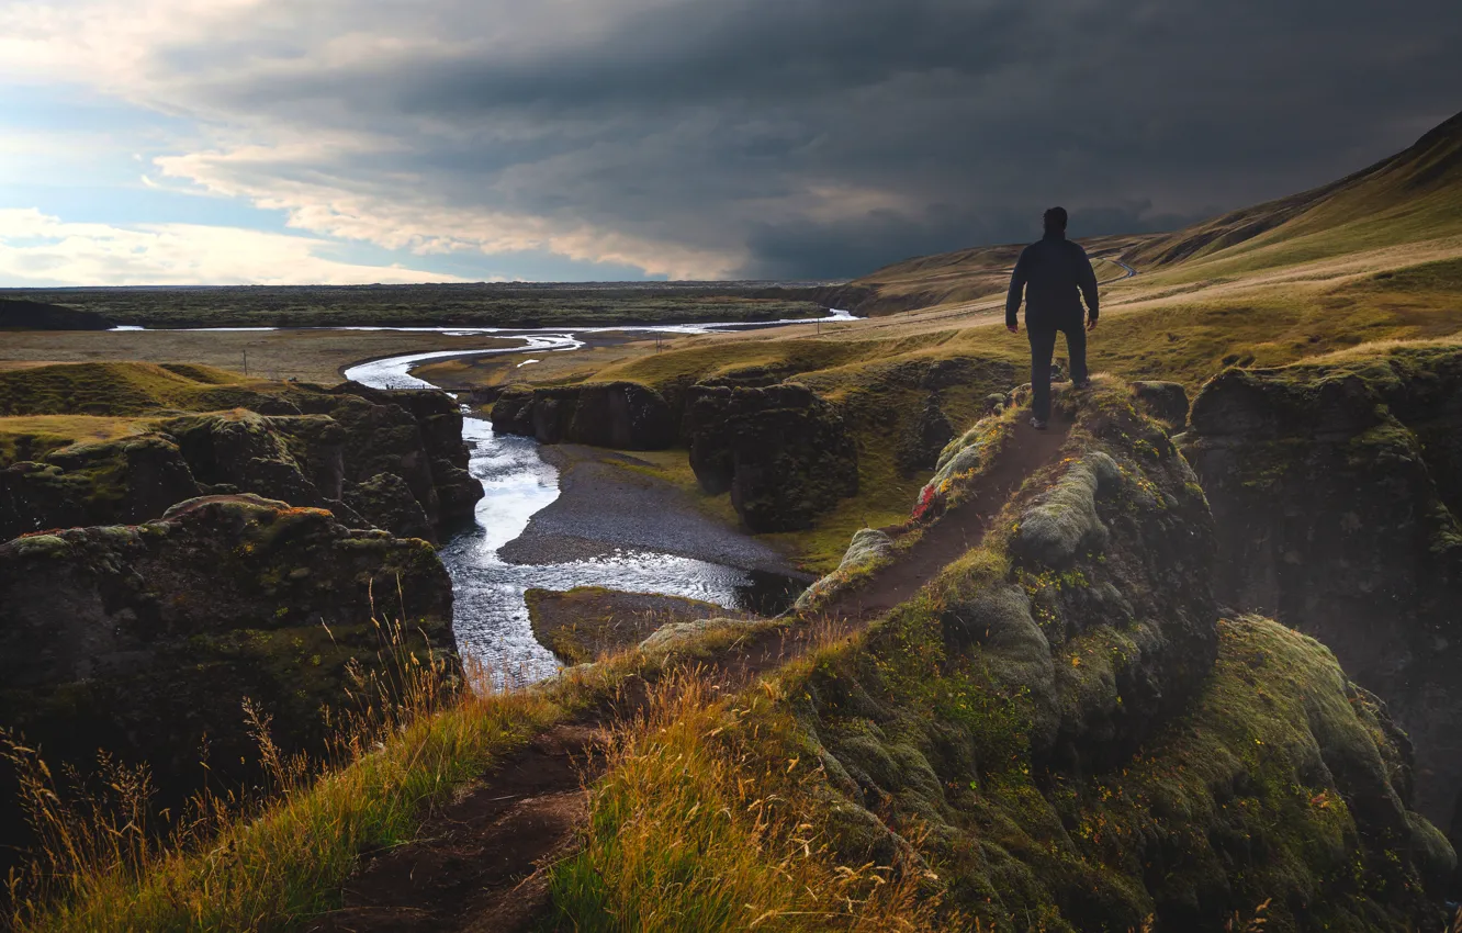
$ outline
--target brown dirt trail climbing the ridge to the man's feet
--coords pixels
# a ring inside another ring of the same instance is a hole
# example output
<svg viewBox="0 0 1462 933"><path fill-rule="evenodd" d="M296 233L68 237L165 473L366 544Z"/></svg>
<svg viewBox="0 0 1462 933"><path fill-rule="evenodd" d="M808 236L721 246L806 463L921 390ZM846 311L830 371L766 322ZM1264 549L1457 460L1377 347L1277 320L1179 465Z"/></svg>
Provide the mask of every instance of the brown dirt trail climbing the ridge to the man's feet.
<svg viewBox="0 0 1462 933"><path fill-rule="evenodd" d="M735 690L801 655L816 636L854 632L911 598L980 543L990 521L1032 472L1053 462L1070 424L1053 418L1037 431L1025 421L981 477L974 494L939 522L904 559L866 586L835 600L827 623L791 626L721 658L718 683ZM588 819L586 787L602 774L608 730L642 708L643 683L621 699L534 739L482 785L433 816L417 842L367 855L345 889L345 907L306 929L311 933L522 933L548 908L544 866L572 853Z"/></svg>

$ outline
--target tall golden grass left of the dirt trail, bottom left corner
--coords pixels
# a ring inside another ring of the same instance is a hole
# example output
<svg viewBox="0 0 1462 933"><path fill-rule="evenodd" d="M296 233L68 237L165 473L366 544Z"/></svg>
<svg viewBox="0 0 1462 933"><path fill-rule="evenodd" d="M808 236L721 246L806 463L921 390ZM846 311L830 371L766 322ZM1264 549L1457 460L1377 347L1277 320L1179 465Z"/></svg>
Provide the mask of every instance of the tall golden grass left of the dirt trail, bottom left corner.
<svg viewBox="0 0 1462 933"><path fill-rule="evenodd" d="M320 759L285 756L269 719L246 705L269 775L257 794L199 794L151 813L151 781L102 758L99 782L57 779L18 737L7 756L39 836L12 875L20 932L282 930L339 901L361 853L414 836L431 807L493 760L566 715L542 690L459 689L418 664L399 629L383 633L380 673L357 671L352 711Z"/></svg>

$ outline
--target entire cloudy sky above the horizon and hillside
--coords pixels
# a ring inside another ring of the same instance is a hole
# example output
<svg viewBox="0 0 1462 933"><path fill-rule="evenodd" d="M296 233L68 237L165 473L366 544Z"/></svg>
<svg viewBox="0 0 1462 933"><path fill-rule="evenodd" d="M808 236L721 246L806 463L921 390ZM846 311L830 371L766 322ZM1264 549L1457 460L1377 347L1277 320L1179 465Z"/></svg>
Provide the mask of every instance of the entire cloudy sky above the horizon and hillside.
<svg viewBox="0 0 1462 933"><path fill-rule="evenodd" d="M0 287L841 279L1462 110L1456 0L0 0Z"/></svg>

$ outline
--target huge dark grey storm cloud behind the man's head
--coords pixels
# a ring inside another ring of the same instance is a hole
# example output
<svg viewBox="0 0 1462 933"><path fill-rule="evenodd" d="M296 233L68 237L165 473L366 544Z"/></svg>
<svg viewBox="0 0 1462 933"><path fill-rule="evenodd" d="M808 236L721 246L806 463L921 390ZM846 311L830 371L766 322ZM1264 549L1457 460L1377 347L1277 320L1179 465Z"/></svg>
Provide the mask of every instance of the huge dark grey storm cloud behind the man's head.
<svg viewBox="0 0 1462 933"><path fill-rule="evenodd" d="M1079 235L1171 227L1360 168L1462 110L1455 0L591 3L592 31L481 42L513 4L427 6L450 45L348 67L222 56L194 94L396 142L311 177L409 177L427 202L787 278L1026 238L1057 202Z"/></svg>

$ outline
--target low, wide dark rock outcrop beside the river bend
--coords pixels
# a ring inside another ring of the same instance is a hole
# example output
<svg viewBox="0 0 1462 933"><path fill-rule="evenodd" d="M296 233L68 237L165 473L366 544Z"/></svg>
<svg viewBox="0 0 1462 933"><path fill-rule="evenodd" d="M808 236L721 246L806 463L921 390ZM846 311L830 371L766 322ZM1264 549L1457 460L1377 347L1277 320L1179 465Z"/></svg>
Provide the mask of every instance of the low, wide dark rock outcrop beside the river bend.
<svg viewBox="0 0 1462 933"><path fill-rule="evenodd" d="M677 434L659 392L633 382L507 389L493 404L493 430L618 450L661 450Z"/></svg>

